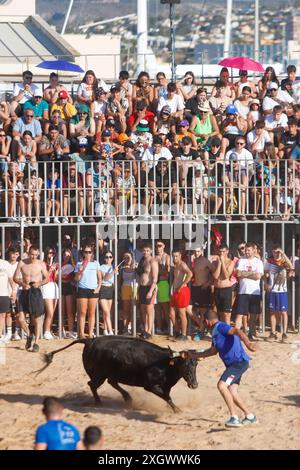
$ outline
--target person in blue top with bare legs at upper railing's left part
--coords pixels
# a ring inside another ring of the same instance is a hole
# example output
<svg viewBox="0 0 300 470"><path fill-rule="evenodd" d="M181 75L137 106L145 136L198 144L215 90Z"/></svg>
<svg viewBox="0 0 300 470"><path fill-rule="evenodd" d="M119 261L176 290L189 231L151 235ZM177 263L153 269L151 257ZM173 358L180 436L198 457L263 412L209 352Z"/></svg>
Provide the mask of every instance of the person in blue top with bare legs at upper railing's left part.
<svg viewBox="0 0 300 470"><path fill-rule="evenodd" d="M60 215L60 194L61 194L61 179L59 171L56 168L49 168L48 178L46 180L46 189L47 189L47 210L45 223L50 223L50 216L54 212L53 222L55 224L60 224L59 215Z"/></svg>

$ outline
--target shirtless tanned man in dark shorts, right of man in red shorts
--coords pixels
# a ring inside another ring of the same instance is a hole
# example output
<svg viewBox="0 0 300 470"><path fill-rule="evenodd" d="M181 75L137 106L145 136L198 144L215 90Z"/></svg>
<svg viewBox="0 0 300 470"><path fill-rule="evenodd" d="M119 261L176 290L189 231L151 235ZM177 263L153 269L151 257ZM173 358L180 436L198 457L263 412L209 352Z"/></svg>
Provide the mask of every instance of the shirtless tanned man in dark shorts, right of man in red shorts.
<svg viewBox="0 0 300 470"><path fill-rule="evenodd" d="M202 247L196 249L197 256L193 261L193 283L192 283L192 304L194 308L194 316L200 314L200 328L194 339L199 340L203 337L205 330L204 313L211 308L212 304L212 263L205 258Z"/></svg>

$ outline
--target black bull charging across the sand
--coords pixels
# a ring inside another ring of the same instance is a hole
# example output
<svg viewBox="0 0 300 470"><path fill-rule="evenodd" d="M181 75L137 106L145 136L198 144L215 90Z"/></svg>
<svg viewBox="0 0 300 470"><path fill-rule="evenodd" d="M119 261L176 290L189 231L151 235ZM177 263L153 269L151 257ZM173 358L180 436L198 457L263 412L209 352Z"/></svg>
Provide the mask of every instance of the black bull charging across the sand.
<svg viewBox="0 0 300 470"><path fill-rule="evenodd" d="M131 404L131 396L119 383L143 387L165 400L173 411L178 411L178 408L170 397L170 390L178 380L184 378L189 388L198 387L197 360L184 358L183 354L138 338L102 336L79 339L46 354L47 366L52 362L54 354L78 343L84 344L83 365L91 379L88 384L96 405L101 405L97 389L106 379L128 404ZM41 371L44 369L45 367Z"/></svg>

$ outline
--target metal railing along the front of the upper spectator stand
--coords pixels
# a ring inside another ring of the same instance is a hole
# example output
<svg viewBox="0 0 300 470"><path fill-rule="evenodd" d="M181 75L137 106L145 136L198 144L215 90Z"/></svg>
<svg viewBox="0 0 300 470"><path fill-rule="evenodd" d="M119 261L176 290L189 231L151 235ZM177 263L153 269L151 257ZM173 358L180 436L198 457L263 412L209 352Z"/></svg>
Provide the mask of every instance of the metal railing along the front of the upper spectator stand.
<svg viewBox="0 0 300 470"><path fill-rule="evenodd" d="M285 220L300 216L294 160L89 160L1 163L0 220L126 217Z"/></svg>

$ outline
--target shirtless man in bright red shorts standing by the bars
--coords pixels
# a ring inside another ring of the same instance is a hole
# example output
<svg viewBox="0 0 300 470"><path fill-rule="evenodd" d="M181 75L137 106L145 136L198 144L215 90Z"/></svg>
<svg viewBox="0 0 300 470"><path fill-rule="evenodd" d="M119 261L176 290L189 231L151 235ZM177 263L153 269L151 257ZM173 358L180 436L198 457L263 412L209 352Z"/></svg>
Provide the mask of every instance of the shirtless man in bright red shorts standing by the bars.
<svg viewBox="0 0 300 470"><path fill-rule="evenodd" d="M191 293L188 283L193 277L192 271L188 265L182 261L181 252L173 250L172 252L174 275L173 275L173 295L171 298L170 320L176 329L176 312L179 315L181 323L181 334L177 336L178 340L187 340L187 310L190 305Z"/></svg>

